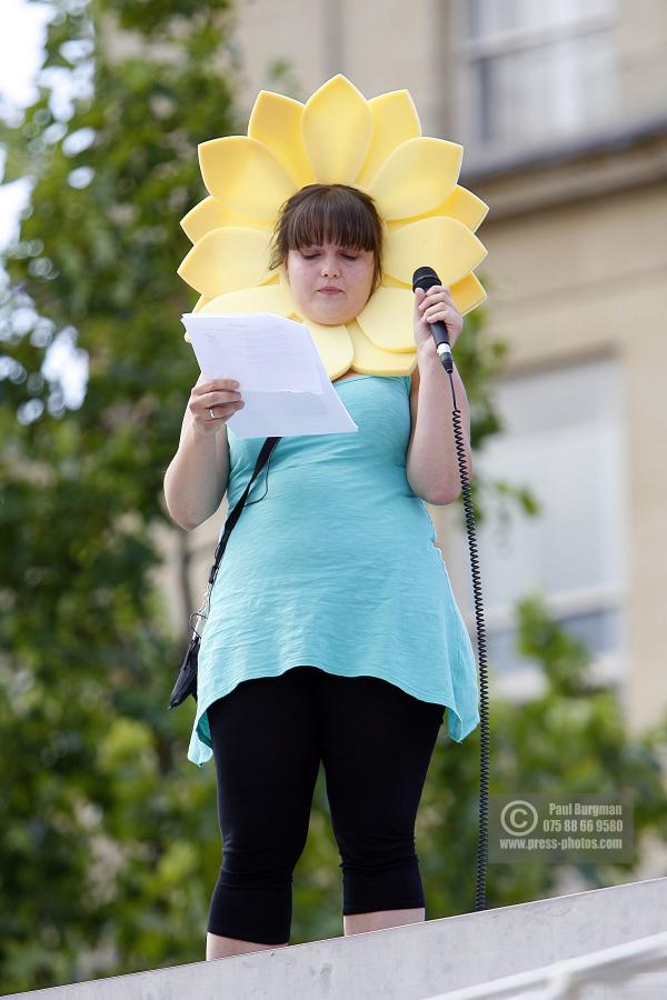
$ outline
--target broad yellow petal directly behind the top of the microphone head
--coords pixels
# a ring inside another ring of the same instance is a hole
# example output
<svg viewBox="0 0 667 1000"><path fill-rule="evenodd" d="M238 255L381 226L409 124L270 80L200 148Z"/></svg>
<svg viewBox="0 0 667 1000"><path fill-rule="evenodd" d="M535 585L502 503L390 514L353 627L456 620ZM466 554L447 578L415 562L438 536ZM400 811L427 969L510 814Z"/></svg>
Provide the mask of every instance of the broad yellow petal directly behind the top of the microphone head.
<svg viewBox="0 0 667 1000"><path fill-rule="evenodd" d="M460 281L487 254L486 247L458 219L420 219L387 237L384 268L412 287L417 268L432 268L440 284Z"/></svg>

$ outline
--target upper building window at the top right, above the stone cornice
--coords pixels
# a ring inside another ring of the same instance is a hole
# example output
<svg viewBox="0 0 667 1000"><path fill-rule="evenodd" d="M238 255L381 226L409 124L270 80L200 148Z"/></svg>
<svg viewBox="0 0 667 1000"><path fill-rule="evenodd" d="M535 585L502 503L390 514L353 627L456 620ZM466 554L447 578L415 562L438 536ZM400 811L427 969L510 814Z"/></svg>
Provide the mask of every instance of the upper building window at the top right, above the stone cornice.
<svg viewBox="0 0 667 1000"><path fill-rule="evenodd" d="M459 0L459 141L502 153L603 126L615 23L614 0Z"/></svg>

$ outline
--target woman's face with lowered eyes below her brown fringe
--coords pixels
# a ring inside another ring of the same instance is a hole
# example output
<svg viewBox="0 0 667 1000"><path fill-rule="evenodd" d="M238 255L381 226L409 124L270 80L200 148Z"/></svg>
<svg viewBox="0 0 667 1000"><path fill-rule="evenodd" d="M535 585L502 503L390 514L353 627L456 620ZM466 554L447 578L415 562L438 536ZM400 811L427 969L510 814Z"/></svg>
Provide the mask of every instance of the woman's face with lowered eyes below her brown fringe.
<svg viewBox="0 0 667 1000"><path fill-rule="evenodd" d="M289 251L285 266L299 311L317 323L347 323L368 302L375 267L372 250L350 250L337 243L302 247Z"/></svg>

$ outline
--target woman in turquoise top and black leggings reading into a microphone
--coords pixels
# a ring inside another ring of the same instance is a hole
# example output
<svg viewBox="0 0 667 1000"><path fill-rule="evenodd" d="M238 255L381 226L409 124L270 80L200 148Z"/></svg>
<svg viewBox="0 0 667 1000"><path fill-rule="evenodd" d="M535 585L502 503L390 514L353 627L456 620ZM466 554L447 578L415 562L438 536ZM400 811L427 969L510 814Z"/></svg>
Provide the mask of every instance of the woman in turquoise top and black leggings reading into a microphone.
<svg viewBox="0 0 667 1000"><path fill-rule="evenodd" d="M285 266L303 316L350 322L379 282L381 231L364 192L310 184L282 207L271 267ZM289 943L320 761L345 933L426 917L415 821L429 761L446 707L459 742L479 722L475 657L424 503L460 493L435 320L454 346L462 319L447 288L416 293L411 378L335 379L357 433L281 438L220 563L188 752L215 758L223 839L207 959ZM262 440L227 428L242 406L229 379L192 389L165 478L186 530L246 489Z"/></svg>

